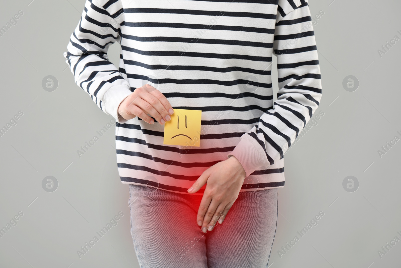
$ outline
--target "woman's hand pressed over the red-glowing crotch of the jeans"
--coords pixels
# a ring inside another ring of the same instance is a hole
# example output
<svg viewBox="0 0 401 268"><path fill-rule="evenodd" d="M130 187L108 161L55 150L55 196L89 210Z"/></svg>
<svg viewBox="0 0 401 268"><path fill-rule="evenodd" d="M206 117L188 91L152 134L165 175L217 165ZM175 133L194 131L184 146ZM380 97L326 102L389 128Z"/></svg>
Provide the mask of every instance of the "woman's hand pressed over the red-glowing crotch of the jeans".
<svg viewBox="0 0 401 268"><path fill-rule="evenodd" d="M197 192L207 182L196 218L204 233L213 230L217 221L223 222L238 197L245 176L241 163L232 155L205 170L188 189L189 193Z"/></svg>

